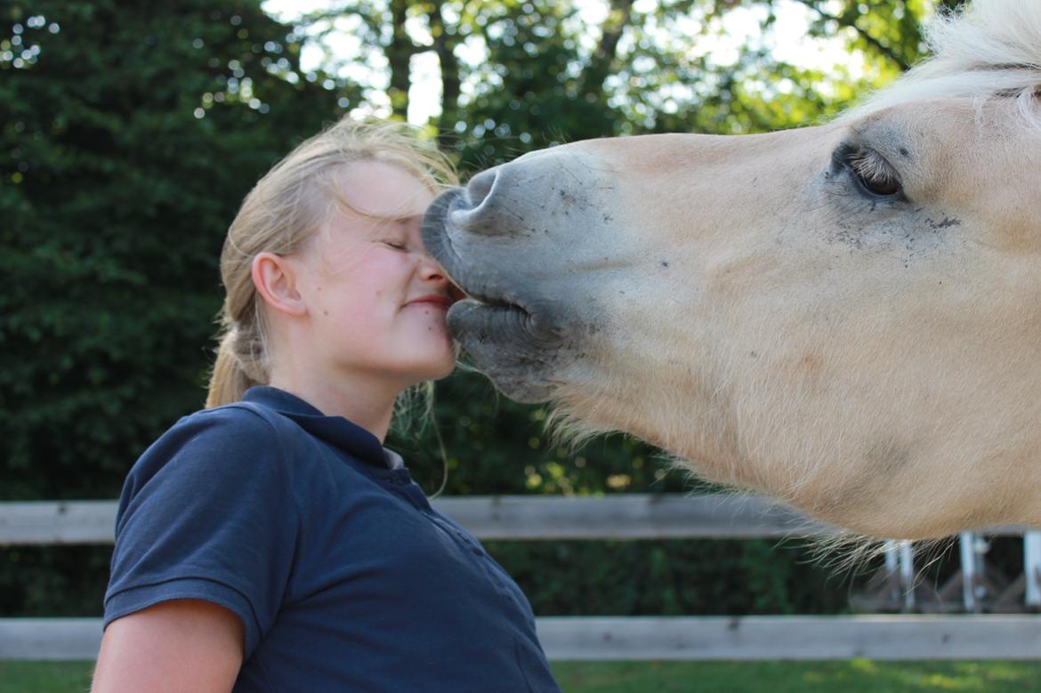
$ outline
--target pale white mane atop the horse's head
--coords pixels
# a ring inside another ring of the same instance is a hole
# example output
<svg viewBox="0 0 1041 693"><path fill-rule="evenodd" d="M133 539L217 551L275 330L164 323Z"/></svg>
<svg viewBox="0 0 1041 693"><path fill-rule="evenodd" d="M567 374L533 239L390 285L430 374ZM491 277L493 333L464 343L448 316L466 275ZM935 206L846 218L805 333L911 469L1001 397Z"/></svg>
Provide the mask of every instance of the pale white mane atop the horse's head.
<svg viewBox="0 0 1041 693"><path fill-rule="evenodd" d="M932 56L840 120L928 99L969 97L977 104L1015 98L1041 129L1041 0L975 0L941 11L925 28Z"/></svg>

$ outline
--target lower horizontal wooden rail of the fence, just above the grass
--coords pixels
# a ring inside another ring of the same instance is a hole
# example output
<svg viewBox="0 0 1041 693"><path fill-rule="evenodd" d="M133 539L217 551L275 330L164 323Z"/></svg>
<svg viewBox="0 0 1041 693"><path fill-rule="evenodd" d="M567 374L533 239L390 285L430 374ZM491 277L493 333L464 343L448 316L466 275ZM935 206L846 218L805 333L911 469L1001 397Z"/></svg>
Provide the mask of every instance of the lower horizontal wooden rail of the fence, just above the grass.
<svg viewBox="0 0 1041 693"><path fill-rule="evenodd" d="M542 617L547 656L591 660L1041 660L1041 616ZM101 620L0 619L0 660L93 660Z"/></svg>

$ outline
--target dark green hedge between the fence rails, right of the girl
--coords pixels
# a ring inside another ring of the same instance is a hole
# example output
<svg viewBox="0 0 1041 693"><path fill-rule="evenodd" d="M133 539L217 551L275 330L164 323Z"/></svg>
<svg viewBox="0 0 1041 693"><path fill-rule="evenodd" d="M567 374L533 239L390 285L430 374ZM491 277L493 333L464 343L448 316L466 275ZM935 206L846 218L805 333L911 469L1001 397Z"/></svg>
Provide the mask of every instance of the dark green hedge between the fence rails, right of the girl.
<svg viewBox="0 0 1041 693"><path fill-rule="evenodd" d="M540 616L835 614L839 578L776 541L487 542ZM861 581L863 582L863 581Z"/></svg>

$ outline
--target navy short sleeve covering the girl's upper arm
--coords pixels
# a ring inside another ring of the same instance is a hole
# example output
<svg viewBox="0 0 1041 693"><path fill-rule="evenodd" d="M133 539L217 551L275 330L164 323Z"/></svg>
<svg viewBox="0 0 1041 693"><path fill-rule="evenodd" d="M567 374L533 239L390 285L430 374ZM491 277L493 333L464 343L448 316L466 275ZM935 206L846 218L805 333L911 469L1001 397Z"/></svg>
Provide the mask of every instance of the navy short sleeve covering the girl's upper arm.
<svg viewBox="0 0 1041 693"><path fill-rule="evenodd" d="M205 599L243 620L249 657L293 569L289 460L271 424L246 407L198 412L163 434L123 487L105 626L161 601Z"/></svg>

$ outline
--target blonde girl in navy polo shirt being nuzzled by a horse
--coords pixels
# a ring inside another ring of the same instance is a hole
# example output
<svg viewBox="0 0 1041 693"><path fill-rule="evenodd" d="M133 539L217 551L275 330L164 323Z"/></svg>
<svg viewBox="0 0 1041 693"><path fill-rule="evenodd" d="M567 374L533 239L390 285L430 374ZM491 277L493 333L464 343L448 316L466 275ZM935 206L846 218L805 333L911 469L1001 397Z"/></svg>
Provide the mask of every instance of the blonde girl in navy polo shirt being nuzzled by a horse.
<svg viewBox="0 0 1041 693"><path fill-rule="evenodd" d="M516 584L383 447L455 363L426 254L451 169L337 123L247 196L207 408L130 470L94 691L559 691Z"/></svg>

